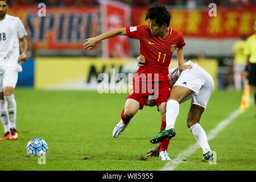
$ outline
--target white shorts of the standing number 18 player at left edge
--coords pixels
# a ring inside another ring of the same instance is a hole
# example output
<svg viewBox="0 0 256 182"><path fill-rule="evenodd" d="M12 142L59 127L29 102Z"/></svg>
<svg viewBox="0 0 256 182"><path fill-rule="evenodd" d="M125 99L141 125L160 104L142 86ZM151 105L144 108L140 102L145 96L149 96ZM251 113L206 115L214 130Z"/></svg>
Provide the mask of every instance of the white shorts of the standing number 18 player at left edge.
<svg viewBox="0 0 256 182"><path fill-rule="evenodd" d="M3 92L3 88L11 86L15 88L18 81L18 72L15 70L7 70L0 75L0 92Z"/></svg>

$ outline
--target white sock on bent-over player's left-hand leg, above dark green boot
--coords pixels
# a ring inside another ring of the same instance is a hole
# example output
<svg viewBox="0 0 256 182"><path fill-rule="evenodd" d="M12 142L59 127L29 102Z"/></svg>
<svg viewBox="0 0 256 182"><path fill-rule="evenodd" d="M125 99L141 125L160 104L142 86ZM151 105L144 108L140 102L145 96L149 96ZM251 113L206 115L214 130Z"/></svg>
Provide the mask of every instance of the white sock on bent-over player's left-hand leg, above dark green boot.
<svg viewBox="0 0 256 182"><path fill-rule="evenodd" d="M175 100L167 101L166 105L166 130L174 128L177 115L179 115L179 102Z"/></svg>

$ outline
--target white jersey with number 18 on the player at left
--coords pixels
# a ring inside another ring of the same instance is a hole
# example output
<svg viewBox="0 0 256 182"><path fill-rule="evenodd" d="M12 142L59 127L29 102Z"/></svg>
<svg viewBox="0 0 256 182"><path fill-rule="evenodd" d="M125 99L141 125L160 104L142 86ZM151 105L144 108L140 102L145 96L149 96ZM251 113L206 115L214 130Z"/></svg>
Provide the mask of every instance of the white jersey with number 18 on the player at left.
<svg viewBox="0 0 256 182"><path fill-rule="evenodd" d="M0 21L0 74L13 69L22 71L19 60L19 39L26 36L27 32L22 21L15 16L6 14Z"/></svg>

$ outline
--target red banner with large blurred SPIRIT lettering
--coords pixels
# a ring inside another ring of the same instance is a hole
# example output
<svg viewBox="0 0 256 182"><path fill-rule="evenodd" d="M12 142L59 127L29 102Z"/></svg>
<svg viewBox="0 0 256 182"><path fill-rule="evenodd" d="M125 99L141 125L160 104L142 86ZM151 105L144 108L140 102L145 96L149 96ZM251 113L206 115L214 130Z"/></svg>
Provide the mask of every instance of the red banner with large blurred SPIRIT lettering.
<svg viewBox="0 0 256 182"><path fill-rule="evenodd" d="M38 11L30 7L11 7L9 14L22 19L28 36L40 50L82 49L84 39L97 35L99 13L96 7L47 8L46 16L42 17Z"/></svg>

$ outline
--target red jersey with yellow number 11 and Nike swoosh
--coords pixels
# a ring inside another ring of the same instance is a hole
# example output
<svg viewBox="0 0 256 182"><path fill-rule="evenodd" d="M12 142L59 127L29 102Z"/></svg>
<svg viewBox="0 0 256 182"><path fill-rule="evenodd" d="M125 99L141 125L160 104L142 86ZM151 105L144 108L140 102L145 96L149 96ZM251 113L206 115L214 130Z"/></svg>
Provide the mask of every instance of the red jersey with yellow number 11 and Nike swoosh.
<svg viewBox="0 0 256 182"><path fill-rule="evenodd" d="M139 67L137 73L152 73L152 80L147 76L147 81L154 81L154 74L159 74L159 81L169 80L169 65L177 47L185 46L183 34L175 28L170 28L166 38L155 36L150 31L149 25L126 27L129 38L138 39L141 44L141 55L146 58L146 64Z"/></svg>

